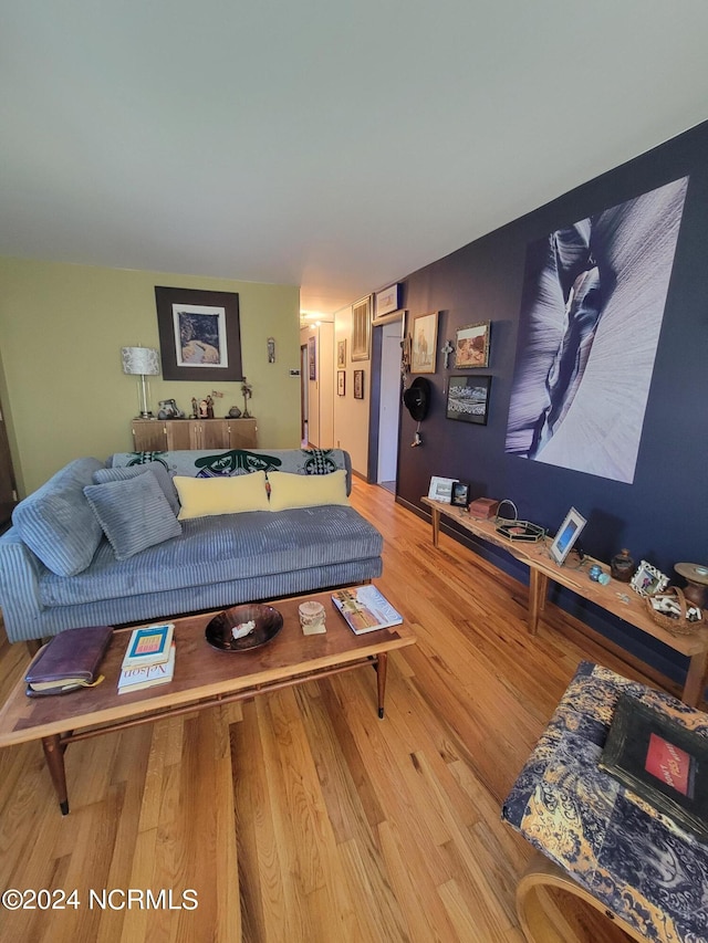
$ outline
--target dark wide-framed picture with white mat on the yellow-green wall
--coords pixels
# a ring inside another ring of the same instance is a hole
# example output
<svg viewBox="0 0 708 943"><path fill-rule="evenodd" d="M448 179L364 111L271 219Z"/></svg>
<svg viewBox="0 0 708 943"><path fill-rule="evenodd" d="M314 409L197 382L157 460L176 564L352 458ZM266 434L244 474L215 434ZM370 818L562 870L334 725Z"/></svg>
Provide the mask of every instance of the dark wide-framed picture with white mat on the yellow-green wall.
<svg viewBox="0 0 708 943"><path fill-rule="evenodd" d="M163 379L243 379L239 296L155 286Z"/></svg>

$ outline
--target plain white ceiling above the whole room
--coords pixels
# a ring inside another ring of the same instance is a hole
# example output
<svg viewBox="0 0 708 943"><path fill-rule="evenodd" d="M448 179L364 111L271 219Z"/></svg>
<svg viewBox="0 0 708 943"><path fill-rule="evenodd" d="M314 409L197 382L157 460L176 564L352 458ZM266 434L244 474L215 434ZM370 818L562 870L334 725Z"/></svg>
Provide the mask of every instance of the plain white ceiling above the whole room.
<svg viewBox="0 0 708 943"><path fill-rule="evenodd" d="M706 0L0 0L0 254L333 312L708 117Z"/></svg>

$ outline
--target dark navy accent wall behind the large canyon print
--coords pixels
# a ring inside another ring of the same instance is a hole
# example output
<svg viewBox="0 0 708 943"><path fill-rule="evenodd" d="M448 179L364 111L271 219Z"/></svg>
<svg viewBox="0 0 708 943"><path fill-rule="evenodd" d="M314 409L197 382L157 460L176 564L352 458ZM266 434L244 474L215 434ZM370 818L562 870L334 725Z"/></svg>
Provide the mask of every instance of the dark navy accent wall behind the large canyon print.
<svg viewBox="0 0 708 943"><path fill-rule="evenodd" d="M688 191L634 483L506 454L527 245L685 176ZM415 315L440 312L437 371L426 375L434 390L421 448L409 448L416 423L402 410L402 503L420 509L434 474L461 479L470 482L472 497L509 497L521 518L553 533L574 505L589 521L583 547L601 559L628 547L637 563L647 559L671 577L675 563L708 564L708 122L413 273L404 280L402 306L407 329ZM458 327L478 321L492 323L489 369L475 371L492 376L487 426L446 418L444 388L459 371L446 371L439 353ZM503 552L501 557L494 562L524 578L516 562ZM560 594L559 601L631 650L648 645L656 650L649 660L681 674L680 656L622 624L607 624L605 614L580 606L570 594Z"/></svg>

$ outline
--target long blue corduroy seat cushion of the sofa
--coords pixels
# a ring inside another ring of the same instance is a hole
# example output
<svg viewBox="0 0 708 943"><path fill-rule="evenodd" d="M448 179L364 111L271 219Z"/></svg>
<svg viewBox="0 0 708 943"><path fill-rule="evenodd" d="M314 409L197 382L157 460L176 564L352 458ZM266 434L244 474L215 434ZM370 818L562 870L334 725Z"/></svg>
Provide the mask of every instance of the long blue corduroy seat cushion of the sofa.
<svg viewBox="0 0 708 943"><path fill-rule="evenodd" d="M247 511L183 522L181 536L117 562L104 541L74 579L40 579L44 606L73 606L381 556L383 538L353 507ZM195 607L197 608L197 607Z"/></svg>

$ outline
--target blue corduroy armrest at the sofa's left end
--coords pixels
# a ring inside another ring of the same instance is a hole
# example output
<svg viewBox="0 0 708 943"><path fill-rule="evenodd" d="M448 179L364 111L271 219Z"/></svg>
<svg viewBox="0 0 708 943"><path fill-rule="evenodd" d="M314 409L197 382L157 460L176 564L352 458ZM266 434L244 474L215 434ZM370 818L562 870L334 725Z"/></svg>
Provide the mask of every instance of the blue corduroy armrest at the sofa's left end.
<svg viewBox="0 0 708 943"><path fill-rule="evenodd" d="M0 537L0 608L11 642L39 638L42 611L39 576L42 564L11 527Z"/></svg>

